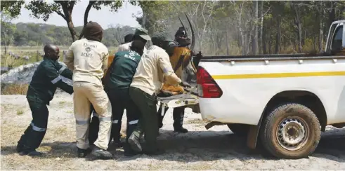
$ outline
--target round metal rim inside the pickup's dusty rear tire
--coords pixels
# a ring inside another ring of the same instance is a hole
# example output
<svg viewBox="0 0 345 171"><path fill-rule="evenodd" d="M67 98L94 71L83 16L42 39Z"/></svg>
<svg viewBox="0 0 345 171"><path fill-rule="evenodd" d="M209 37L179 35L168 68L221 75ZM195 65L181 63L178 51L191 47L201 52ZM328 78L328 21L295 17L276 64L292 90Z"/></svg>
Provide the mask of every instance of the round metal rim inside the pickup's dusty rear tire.
<svg viewBox="0 0 345 171"><path fill-rule="evenodd" d="M277 128L278 143L289 151L303 148L308 140L308 135L308 124L299 116L285 118Z"/></svg>

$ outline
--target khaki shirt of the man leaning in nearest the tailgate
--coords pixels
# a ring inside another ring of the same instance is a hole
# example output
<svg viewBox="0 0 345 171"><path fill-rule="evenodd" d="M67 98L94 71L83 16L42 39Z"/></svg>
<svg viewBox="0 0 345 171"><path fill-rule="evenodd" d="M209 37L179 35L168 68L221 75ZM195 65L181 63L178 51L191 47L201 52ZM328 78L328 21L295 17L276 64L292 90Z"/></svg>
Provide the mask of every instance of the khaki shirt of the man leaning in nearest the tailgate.
<svg viewBox="0 0 345 171"><path fill-rule="evenodd" d="M157 95L164 81L169 85L181 83L171 67L167 52L158 46L150 46L141 57L131 87L139 88L149 95Z"/></svg>

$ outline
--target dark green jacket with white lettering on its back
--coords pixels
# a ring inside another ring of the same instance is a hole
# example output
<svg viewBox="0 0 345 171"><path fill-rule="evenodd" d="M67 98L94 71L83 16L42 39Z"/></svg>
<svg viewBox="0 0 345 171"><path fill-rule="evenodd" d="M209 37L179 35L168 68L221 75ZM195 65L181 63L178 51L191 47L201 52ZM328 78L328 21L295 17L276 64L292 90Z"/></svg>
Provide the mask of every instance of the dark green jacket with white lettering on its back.
<svg viewBox="0 0 345 171"><path fill-rule="evenodd" d="M109 89L128 89L140 60L141 55L132 50L115 53L110 65Z"/></svg>

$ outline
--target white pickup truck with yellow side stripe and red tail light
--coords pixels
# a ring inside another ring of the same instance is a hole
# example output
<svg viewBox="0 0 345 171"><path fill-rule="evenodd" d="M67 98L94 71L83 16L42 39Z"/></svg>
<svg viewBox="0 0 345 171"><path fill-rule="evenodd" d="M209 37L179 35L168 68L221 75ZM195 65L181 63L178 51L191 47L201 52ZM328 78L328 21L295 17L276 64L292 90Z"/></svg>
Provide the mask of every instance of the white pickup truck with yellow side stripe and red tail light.
<svg viewBox="0 0 345 171"><path fill-rule="evenodd" d="M326 125L345 126L345 20L333 22L323 55L202 57L202 118L227 124L278 158L311 155Z"/></svg>

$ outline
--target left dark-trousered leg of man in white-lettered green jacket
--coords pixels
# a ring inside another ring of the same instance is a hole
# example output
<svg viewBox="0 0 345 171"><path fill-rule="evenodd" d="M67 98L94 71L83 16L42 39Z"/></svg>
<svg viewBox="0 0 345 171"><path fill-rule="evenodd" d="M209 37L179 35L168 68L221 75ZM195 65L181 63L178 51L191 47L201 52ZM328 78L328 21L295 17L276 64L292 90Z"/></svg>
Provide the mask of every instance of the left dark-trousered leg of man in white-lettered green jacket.
<svg viewBox="0 0 345 171"><path fill-rule="evenodd" d="M111 137L114 139L115 146L121 146L120 131L122 124L122 116L124 115L124 100L121 94L115 90L109 90L109 100L112 104L112 130ZM111 139L110 139L111 141Z"/></svg>

